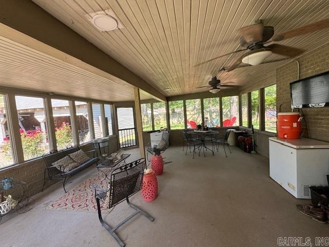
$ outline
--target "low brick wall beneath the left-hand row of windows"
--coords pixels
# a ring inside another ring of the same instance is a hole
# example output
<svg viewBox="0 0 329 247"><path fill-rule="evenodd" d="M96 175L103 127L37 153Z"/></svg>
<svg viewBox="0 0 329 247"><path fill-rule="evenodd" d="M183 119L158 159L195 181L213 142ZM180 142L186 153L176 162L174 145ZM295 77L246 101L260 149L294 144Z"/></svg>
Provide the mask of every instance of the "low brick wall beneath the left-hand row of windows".
<svg viewBox="0 0 329 247"><path fill-rule="evenodd" d="M93 144L88 143L86 145L80 146L83 151L92 150ZM117 150L117 138L113 136L110 138L109 151L110 153ZM46 165L42 158L37 158L33 161L25 162L20 165L9 167L0 171L0 181L3 178L11 177L14 181L23 181L27 183L30 195L35 195L39 193L43 186L44 181L44 170ZM83 171L82 171L83 172ZM96 169L95 169L96 172ZM58 180L48 181L46 187L58 182ZM13 196L20 195L21 190L17 188L12 191Z"/></svg>

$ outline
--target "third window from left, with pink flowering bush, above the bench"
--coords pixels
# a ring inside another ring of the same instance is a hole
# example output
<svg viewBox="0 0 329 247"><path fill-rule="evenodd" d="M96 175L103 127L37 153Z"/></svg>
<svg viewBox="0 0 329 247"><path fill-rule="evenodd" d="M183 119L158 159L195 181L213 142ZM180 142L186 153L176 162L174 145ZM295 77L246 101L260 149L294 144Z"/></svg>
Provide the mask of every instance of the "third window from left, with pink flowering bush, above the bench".
<svg viewBox="0 0 329 247"><path fill-rule="evenodd" d="M68 100L51 99L57 149L74 145Z"/></svg>

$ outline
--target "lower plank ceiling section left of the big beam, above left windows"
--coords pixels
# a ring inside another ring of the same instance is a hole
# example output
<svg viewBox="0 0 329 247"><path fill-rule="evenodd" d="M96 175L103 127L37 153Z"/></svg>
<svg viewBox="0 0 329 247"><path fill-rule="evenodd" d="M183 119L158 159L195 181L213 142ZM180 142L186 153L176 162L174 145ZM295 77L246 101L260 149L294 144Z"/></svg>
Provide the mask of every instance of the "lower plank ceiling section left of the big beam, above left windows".
<svg viewBox="0 0 329 247"><path fill-rule="evenodd" d="M134 100L134 87L0 37L0 85L106 101ZM1 89L0 89L1 91ZM150 96L141 94L141 99Z"/></svg>

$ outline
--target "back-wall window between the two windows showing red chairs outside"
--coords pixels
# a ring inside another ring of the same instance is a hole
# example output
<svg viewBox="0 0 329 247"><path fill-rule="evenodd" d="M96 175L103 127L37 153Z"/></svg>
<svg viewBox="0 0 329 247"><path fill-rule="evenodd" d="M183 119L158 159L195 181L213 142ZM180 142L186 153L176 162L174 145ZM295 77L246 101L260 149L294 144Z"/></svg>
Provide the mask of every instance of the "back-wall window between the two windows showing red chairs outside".
<svg viewBox="0 0 329 247"><path fill-rule="evenodd" d="M221 127L220 98L204 99L204 114L208 118L208 127Z"/></svg>

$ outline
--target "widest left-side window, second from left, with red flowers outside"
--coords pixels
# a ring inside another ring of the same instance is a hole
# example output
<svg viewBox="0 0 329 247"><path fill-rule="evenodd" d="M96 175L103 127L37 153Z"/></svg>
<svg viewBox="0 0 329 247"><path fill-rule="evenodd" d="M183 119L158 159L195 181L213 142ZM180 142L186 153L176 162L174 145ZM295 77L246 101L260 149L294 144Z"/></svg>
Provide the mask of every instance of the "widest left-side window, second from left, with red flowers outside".
<svg viewBox="0 0 329 247"><path fill-rule="evenodd" d="M49 152L43 98L15 96L24 160Z"/></svg>

